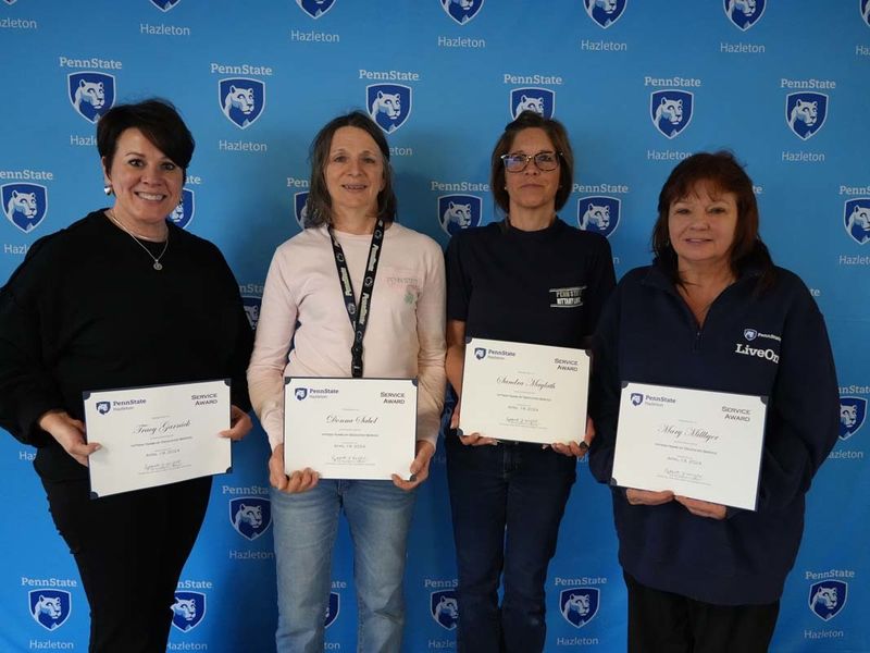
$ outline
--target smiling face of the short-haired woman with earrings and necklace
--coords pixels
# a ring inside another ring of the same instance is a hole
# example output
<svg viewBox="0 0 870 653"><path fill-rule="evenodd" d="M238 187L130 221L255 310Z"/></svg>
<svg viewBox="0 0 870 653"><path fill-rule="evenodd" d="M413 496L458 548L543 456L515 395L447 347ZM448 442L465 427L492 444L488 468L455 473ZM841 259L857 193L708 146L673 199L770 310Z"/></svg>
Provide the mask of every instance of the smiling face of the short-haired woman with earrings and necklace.
<svg viewBox="0 0 870 653"><path fill-rule="evenodd" d="M103 175L115 194L115 219L135 234L162 238L165 219L178 206L184 172L137 128L124 130L111 169Z"/></svg>

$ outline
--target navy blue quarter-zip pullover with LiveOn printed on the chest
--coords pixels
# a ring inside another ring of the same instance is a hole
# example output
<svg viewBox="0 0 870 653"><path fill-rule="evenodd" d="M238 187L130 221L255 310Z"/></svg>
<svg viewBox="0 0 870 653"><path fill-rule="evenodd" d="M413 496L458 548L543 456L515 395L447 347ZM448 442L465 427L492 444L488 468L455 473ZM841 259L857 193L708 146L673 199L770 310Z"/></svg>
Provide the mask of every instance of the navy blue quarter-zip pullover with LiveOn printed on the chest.
<svg viewBox="0 0 870 653"><path fill-rule="evenodd" d="M641 583L720 605L779 600L804 530L804 495L836 442L840 398L824 320L804 283L747 272L699 326L656 264L629 272L595 336L589 467L608 483L622 381L769 397L758 510L696 517L678 502L632 506L614 488L623 569ZM747 460L748 464L751 464Z"/></svg>

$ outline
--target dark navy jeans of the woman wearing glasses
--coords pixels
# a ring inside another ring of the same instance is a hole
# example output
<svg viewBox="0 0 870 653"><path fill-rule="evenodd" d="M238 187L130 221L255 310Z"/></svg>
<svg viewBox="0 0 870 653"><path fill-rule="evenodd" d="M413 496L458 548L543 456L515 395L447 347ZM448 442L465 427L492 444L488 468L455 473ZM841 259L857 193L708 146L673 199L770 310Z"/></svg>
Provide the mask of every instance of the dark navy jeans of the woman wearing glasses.
<svg viewBox="0 0 870 653"><path fill-rule="evenodd" d="M452 432L445 448L459 570L458 649L543 651L544 583L576 460L539 444L465 446Z"/></svg>

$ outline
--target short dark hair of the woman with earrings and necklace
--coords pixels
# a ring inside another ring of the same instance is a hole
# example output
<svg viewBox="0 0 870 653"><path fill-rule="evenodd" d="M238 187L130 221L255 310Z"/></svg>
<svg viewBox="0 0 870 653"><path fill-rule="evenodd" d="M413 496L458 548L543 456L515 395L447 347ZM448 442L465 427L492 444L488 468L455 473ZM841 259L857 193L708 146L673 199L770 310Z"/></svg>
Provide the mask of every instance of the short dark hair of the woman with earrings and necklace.
<svg viewBox="0 0 870 653"><path fill-rule="evenodd" d="M151 98L135 104L115 104L103 114L97 123L97 151L105 159L105 170L112 169L117 139L126 130L139 130L187 177L196 144L172 102Z"/></svg>

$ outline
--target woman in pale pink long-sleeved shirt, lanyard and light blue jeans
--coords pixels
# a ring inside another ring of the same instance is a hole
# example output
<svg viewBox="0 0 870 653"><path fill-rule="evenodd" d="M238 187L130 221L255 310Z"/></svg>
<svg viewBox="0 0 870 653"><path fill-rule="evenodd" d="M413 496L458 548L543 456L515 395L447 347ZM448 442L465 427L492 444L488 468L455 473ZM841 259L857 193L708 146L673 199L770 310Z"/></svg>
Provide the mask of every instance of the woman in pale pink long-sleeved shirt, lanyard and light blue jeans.
<svg viewBox="0 0 870 653"><path fill-rule="evenodd" d="M428 476L445 387L445 280L440 247L395 215L383 133L362 112L336 118L312 143L306 229L272 259L248 369L251 402L272 445L279 652L323 651L340 512L353 540L358 651L401 646L414 489ZM361 300L362 287L372 292ZM316 469L286 475L285 375L417 378L412 480L321 479Z"/></svg>

